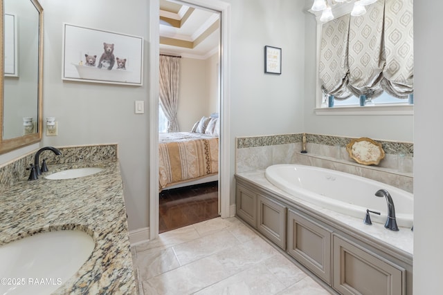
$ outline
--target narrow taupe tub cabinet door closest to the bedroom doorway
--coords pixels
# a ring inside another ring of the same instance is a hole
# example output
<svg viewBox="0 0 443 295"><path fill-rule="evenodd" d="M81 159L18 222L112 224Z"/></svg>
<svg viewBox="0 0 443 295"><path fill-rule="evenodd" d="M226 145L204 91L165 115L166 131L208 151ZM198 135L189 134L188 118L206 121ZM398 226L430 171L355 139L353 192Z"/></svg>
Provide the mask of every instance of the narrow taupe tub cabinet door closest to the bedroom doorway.
<svg viewBox="0 0 443 295"><path fill-rule="evenodd" d="M257 227L257 193L237 184L235 194L235 211L239 218L248 222L249 225Z"/></svg>

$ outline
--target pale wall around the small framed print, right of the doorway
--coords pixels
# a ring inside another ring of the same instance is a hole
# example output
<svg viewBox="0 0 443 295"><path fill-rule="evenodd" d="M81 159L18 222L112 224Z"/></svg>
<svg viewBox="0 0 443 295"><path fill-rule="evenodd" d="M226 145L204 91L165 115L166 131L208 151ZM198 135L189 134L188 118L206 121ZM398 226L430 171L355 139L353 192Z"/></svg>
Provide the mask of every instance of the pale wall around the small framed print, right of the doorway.
<svg viewBox="0 0 443 295"><path fill-rule="evenodd" d="M302 1L230 0L231 175L235 137L303 131ZM282 48L282 75L264 74L264 46ZM230 202L235 201L233 178Z"/></svg>

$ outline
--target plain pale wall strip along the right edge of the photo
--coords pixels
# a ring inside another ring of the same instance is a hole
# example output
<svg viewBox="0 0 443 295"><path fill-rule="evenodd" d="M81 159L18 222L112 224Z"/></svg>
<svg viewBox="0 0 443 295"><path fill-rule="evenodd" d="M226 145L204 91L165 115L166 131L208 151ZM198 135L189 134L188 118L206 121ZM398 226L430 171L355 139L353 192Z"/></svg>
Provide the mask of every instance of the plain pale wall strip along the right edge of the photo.
<svg viewBox="0 0 443 295"><path fill-rule="evenodd" d="M414 294L442 293L442 10L440 1L414 2Z"/></svg>

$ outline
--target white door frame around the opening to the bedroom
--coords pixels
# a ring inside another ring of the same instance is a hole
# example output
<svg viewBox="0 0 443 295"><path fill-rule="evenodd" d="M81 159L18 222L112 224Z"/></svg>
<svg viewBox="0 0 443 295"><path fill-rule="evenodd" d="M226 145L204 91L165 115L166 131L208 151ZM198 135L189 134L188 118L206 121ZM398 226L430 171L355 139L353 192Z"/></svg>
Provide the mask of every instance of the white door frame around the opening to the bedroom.
<svg viewBox="0 0 443 295"><path fill-rule="evenodd" d="M180 0L220 12L220 137L219 208L221 218L230 212L230 3L219 0ZM159 0L150 1L150 240L159 236Z"/></svg>

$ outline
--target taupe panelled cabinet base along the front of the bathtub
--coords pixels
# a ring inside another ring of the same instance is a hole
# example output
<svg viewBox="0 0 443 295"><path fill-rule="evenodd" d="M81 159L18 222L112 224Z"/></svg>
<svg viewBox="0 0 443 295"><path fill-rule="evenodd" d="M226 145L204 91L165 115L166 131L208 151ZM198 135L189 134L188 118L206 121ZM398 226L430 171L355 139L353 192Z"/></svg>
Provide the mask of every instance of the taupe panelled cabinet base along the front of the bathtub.
<svg viewBox="0 0 443 295"><path fill-rule="evenodd" d="M236 178L237 216L339 294L412 295L412 257Z"/></svg>

